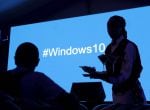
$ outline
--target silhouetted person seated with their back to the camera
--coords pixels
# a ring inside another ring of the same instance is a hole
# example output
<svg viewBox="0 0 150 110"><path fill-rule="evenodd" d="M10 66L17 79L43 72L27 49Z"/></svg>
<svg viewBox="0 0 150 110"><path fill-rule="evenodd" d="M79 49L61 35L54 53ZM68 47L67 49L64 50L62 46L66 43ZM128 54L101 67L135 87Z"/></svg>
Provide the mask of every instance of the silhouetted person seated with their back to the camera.
<svg viewBox="0 0 150 110"><path fill-rule="evenodd" d="M6 91L21 99L17 103L23 110L77 110L74 97L44 73L35 71L38 63L39 51L34 44L19 45L15 53L16 68L7 72L9 81L5 82L10 83Z"/></svg>

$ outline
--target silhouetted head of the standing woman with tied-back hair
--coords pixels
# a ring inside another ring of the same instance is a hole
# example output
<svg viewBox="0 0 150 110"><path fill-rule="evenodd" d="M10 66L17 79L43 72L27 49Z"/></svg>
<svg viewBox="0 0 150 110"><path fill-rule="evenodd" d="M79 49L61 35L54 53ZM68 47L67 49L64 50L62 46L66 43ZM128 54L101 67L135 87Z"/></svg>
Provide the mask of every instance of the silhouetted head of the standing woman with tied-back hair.
<svg viewBox="0 0 150 110"><path fill-rule="evenodd" d="M113 40L118 39L121 35L127 37L125 30L126 21L123 17L114 15L107 22L107 31Z"/></svg>

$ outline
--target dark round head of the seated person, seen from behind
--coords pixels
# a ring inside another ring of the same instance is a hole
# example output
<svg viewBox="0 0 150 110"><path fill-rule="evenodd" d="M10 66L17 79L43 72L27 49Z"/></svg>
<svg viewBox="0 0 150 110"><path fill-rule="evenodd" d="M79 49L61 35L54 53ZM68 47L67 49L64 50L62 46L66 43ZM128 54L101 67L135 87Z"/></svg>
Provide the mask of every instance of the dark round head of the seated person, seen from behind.
<svg viewBox="0 0 150 110"><path fill-rule="evenodd" d="M15 64L18 67L34 69L39 62L38 48L29 42L22 43L15 53Z"/></svg>

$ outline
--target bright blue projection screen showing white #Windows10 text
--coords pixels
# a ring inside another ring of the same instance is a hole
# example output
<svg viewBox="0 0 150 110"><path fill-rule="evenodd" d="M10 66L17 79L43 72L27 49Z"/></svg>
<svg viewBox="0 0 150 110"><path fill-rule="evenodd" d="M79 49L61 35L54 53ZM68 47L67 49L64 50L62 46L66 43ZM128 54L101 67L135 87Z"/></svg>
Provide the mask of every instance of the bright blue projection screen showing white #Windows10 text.
<svg viewBox="0 0 150 110"><path fill-rule="evenodd" d="M143 64L140 80L149 100L149 12L150 7L141 7L12 27L8 69L15 67L14 54L18 45L32 42L40 51L40 63L36 70L44 72L66 91L70 92L73 82L101 81L83 77L79 66L87 65L103 70L97 56L104 53L111 42L106 24L112 15L120 15L126 19L128 38L139 47ZM105 100L111 101L111 84L102 83Z"/></svg>

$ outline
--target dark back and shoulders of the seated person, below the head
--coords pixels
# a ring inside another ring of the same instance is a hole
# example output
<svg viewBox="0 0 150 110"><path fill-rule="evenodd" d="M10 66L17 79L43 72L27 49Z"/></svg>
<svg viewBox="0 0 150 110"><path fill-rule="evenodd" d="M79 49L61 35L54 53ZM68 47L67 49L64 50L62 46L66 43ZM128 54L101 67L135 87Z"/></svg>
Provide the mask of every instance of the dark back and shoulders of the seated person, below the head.
<svg viewBox="0 0 150 110"><path fill-rule="evenodd" d="M25 72L15 68L8 71L8 74L16 79L11 84L10 95L21 101L17 103L23 109L62 109L61 102L58 103L57 100L67 93L44 73Z"/></svg>

